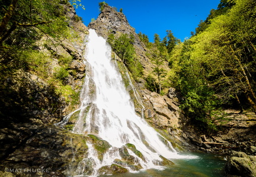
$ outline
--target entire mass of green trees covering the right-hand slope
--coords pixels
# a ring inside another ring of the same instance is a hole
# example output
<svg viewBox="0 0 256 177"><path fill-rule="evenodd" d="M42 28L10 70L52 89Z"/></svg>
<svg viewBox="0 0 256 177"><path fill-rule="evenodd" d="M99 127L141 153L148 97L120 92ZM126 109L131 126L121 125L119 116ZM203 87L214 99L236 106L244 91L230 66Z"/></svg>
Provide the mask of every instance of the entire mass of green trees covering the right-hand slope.
<svg viewBox="0 0 256 177"><path fill-rule="evenodd" d="M172 49L169 80L185 114L204 130L216 130L213 112L227 102L256 112L255 9L253 0L221 1L206 28Z"/></svg>

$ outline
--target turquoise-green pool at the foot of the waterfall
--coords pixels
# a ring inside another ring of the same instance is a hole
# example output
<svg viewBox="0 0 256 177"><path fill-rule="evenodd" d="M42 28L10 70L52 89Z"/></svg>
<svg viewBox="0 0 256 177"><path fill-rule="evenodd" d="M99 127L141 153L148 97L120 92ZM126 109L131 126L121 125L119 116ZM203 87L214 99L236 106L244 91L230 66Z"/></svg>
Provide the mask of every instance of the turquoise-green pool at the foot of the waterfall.
<svg viewBox="0 0 256 177"><path fill-rule="evenodd" d="M197 159L172 159L175 163L171 168L164 170L149 169L139 173L112 175L115 177L221 177L226 161L223 157L207 153L182 154L198 156ZM105 175L103 175L105 176Z"/></svg>

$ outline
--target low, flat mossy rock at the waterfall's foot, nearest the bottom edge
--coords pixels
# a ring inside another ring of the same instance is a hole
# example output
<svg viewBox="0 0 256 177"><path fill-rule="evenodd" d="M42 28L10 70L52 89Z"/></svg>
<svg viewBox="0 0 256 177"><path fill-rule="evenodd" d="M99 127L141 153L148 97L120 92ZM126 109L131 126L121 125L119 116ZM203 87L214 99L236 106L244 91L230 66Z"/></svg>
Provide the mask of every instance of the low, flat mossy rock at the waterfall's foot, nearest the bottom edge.
<svg viewBox="0 0 256 177"><path fill-rule="evenodd" d="M129 172L126 168L123 168L119 165L112 164L103 166L98 170L98 175L114 175L119 173L127 173Z"/></svg>

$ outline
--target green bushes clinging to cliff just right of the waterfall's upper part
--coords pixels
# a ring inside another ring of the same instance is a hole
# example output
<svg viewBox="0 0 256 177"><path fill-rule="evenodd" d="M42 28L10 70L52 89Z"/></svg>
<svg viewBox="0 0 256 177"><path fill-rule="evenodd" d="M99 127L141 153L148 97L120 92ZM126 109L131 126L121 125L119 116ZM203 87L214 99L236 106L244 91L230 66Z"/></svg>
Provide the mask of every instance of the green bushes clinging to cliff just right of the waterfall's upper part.
<svg viewBox="0 0 256 177"><path fill-rule="evenodd" d="M137 79L142 76L143 67L139 60L136 59L135 48L133 47L134 37L127 34L121 34L119 38L115 38L114 34L108 36L108 43L113 51L123 60L132 73L133 78Z"/></svg>

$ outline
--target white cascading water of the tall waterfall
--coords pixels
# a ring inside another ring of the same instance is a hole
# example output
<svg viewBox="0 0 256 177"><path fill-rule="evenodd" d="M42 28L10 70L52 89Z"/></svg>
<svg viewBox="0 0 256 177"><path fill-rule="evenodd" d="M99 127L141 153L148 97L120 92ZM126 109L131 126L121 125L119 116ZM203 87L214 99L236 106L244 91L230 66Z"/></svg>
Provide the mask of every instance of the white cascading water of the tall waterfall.
<svg viewBox="0 0 256 177"><path fill-rule="evenodd" d="M177 155L172 147L169 148L159 139L159 134L143 118L137 116L121 74L111 61L111 47L104 38L98 37L94 30L89 30L85 59L87 76L81 93L82 104L79 110L76 110L80 111L79 118L73 132L95 134L108 141L112 147L100 162L97 159L97 152L89 144L88 157L81 164L85 166L88 159L94 159L92 175L97 175L97 169L101 166L111 165L114 159L121 159L118 149L127 143L134 144L145 157L143 161L129 150L130 155L136 157L143 169L162 169L154 163L161 161L159 155L168 159L181 158L182 156ZM133 89L138 99L134 86ZM63 123L66 123L68 118ZM84 166L76 169L78 175L82 175Z"/></svg>

